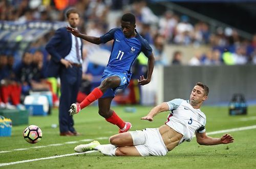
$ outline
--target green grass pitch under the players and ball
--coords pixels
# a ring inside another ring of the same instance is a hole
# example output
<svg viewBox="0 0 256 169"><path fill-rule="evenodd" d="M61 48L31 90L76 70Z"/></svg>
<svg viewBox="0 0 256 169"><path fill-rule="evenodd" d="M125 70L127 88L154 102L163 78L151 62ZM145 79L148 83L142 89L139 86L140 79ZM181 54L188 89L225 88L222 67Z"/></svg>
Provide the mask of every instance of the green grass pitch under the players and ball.
<svg viewBox="0 0 256 169"><path fill-rule="evenodd" d="M168 114L163 112L153 122L148 122L140 117L152 107L135 106L135 113L124 112L124 108L113 107L124 120L133 124L132 130L159 127ZM256 125L256 106L248 107L247 115L238 116L229 116L227 107L203 106L201 110L207 117L206 132ZM77 144L89 143L89 139L108 143L108 137L118 132L116 126L98 115L98 108L94 106L74 115L74 120L76 130L82 135L61 137L58 128L51 127L58 124L57 109L49 116L30 116L29 125L39 126L43 133L36 144L27 143L23 138L27 125L14 126L11 137L0 137L0 168L256 168L256 129L229 132L235 142L217 146L200 146L194 138L164 157L109 157L93 152L1 166L3 163L73 154ZM220 137L222 134L210 136Z"/></svg>

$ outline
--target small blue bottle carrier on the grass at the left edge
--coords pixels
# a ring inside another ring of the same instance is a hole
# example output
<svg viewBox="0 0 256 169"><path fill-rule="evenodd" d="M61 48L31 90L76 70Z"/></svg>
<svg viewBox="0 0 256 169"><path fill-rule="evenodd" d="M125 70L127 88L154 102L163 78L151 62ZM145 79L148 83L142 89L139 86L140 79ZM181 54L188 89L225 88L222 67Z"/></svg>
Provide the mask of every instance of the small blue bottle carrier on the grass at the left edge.
<svg viewBox="0 0 256 169"><path fill-rule="evenodd" d="M11 136L12 120L0 115L0 137Z"/></svg>

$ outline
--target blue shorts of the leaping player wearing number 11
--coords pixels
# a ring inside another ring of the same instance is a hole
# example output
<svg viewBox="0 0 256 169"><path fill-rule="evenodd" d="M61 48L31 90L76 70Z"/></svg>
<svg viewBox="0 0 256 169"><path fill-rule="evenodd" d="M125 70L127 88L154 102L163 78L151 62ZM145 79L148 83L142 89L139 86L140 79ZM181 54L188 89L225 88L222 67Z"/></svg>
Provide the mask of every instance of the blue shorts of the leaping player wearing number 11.
<svg viewBox="0 0 256 169"><path fill-rule="evenodd" d="M101 96L101 98L107 98L107 97L114 97L116 94L117 89L124 89L126 88L130 83L130 75L127 76L125 73L104 73L101 77L101 82L111 76L118 76L121 79L121 82L117 88L108 89L105 91L105 93Z"/></svg>

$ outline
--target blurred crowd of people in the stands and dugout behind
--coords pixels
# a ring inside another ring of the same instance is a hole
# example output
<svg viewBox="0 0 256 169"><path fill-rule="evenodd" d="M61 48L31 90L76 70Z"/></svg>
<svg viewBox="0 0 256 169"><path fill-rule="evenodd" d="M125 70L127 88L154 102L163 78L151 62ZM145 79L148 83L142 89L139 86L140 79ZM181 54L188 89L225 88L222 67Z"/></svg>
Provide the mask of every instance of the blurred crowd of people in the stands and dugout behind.
<svg viewBox="0 0 256 169"><path fill-rule="evenodd" d="M170 10L157 16L147 2L141 0L3 0L0 2L0 20L20 24L38 20L65 21L65 12L69 8L80 11L81 22L78 29L91 36L101 36L108 30L119 27L123 13L135 14L136 29L153 47L156 66L184 64L183 51L166 53L165 47L168 45L190 45L195 46L195 49L200 45L209 46L207 52L197 51L191 56L186 62L188 65L256 64L256 34L251 39L245 39L241 38L236 29L220 26L212 30L206 22L192 21L191 16L178 15ZM45 69L51 57L45 50L45 44L53 33L54 31L31 42L23 56L19 56L22 59L17 63L13 59L14 49L8 50L6 46L5 50L1 50L1 107L11 108L8 101L18 106L30 90L52 91L53 102L57 105L59 93L53 87L57 82L45 77ZM92 57L94 52L102 50L98 55L109 55L112 46L110 42L97 49L98 46L84 43L84 75L78 101L84 97L83 94L88 94L91 88L98 85L104 64L108 61L108 58L105 63L101 63L102 60L98 64L97 61L90 61L95 59ZM137 67L134 68L135 79L138 75L146 75L145 58L139 56L137 62ZM133 93L129 96L135 98L135 95Z"/></svg>

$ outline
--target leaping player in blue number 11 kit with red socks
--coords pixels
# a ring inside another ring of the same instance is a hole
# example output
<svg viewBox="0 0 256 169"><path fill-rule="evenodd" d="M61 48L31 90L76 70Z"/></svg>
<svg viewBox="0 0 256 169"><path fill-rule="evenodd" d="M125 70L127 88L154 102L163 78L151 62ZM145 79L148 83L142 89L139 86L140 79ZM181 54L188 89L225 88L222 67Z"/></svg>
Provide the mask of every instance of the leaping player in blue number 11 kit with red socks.
<svg viewBox="0 0 256 169"><path fill-rule="evenodd" d="M69 110L70 115L79 113L81 109L98 99L99 114L107 122L117 125L119 133L127 132L132 127L131 123L124 122L114 110L110 109L110 106L116 90L129 85L132 76L131 67L140 52L143 52L148 58L148 71L147 78L140 76L138 82L140 85L145 85L151 81L155 61L152 48L135 28L135 16L131 13L122 16L121 28L114 28L101 37L84 35L76 29L67 27L67 30L73 35L94 44L114 40L110 59L102 75L100 86L96 87L81 103L73 103Z"/></svg>

